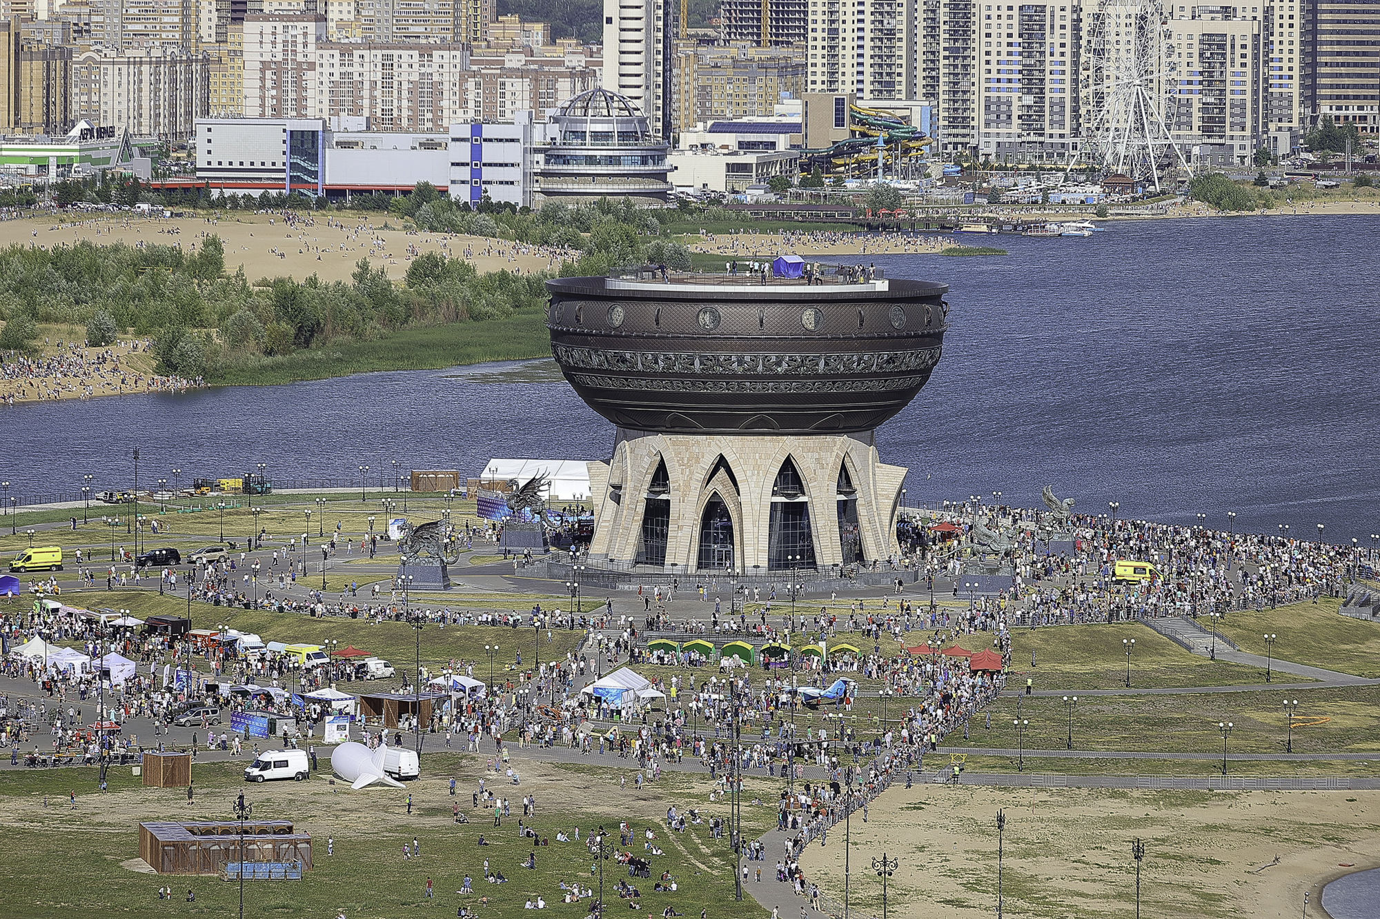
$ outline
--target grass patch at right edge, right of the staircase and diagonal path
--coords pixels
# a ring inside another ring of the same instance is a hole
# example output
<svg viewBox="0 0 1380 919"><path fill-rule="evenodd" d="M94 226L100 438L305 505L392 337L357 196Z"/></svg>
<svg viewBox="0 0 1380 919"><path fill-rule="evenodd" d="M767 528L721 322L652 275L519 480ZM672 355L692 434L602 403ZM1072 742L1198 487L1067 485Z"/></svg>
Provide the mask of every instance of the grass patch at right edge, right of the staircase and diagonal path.
<svg viewBox="0 0 1380 919"><path fill-rule="evenodd" d="M1217 628L1242 651L1264 654L1264 636L1276 635L1272 654L1282 661L1380 678L1380 622L1337 615L1340 606L1341 600L1321 597L1260 613L1232 610ZM1198 621L1208 626L1206 618Z"/></svg>

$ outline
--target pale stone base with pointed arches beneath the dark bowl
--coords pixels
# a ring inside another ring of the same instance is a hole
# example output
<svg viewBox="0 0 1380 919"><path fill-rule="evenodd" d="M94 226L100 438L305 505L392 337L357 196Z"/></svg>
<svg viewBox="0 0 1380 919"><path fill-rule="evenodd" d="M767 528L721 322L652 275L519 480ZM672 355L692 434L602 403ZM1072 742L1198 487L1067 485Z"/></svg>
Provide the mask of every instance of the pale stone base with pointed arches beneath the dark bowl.
<svg viewBox="0 0 1380 919"><path fill-rule="evenodd" d="M788 465L795 475L782 472ZM613 457L589 464L595 533L588 560L665 574L771 575L889 559L898 552L905 468L878 458L872 432L620 429Z"/></svg>

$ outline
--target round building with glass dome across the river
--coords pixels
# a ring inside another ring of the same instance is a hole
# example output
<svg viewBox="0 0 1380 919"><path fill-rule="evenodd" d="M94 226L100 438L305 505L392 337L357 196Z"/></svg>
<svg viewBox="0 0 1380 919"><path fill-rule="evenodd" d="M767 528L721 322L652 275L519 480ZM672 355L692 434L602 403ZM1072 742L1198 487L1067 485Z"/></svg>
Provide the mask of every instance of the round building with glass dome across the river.
<svg viewBox="0 0 1380 919"><path fill-rule="evenodd" d="M651 132L628 97L598 88L570 98L551 116L546 138L538 150L538 201L578 204L607 196L667 203L671 145Z"/></svg>

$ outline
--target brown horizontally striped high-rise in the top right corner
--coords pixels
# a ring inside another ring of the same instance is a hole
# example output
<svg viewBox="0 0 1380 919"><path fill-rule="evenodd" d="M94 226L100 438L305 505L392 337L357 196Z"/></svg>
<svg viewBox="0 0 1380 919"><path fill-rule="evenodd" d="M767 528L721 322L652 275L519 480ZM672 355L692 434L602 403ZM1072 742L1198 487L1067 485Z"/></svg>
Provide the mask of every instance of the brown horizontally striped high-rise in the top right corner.
<svg viewBox="0 0 1380 919"><path fill-rule="evenodd" d="M1289 15L1293 15L1293 4ZM1380 3L1311 0L1303 17L1303 108L1308 127L1330 115L1339 124L1380 131ZM1276 19L1278 21L1278 19Z"/></svg>

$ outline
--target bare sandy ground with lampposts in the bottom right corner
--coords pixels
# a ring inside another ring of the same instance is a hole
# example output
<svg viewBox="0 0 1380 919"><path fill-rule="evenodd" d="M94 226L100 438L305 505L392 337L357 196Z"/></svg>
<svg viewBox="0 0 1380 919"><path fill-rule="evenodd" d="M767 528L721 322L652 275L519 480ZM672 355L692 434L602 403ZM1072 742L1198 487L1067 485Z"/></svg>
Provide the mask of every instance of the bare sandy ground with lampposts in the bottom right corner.
<svg viewBox="0 0 1380 919"><path fill-rule="evenodd" d="M1380 865L1380 792L1151 792L894 785L851 821L851 902L882 912L868 869L900 860L891 916L954 919L996 905L998 809L1006 813L1005 912L1064 919L1134 909L1132 840L1145 844L1141 915L1322 916L1322 886ZM1278 858L1278 861L1276 861ZM802 867L843 898L843 828L813 844ZM861 912L860 912L861 915Z"/></svg>

